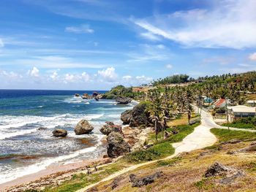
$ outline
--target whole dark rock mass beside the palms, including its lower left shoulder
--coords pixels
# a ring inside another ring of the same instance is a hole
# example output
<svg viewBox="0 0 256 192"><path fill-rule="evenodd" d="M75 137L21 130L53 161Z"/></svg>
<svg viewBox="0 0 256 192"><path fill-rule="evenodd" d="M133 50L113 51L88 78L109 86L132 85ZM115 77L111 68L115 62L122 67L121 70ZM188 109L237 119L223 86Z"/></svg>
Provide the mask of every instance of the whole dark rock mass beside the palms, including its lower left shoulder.
<svg viewBox="0 0 256 192"><path fill-rule="evenodd" d="M151 124L148 112L146 112L146 104L138 104L132 110L126 110L121 113L121 120L124 125L131 127L147 126Z"/></svg>

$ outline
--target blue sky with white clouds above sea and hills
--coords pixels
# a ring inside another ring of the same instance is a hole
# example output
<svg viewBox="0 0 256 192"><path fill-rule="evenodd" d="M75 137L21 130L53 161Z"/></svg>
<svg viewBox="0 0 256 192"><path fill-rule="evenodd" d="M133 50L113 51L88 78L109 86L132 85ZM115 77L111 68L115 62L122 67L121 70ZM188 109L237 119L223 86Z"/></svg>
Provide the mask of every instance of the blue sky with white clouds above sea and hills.
<svg viewBox="0 0 256 192"><path fill-rule="evenodd" d="M0 88L108 90L256 69L255 0L1 0Z"/></svg>

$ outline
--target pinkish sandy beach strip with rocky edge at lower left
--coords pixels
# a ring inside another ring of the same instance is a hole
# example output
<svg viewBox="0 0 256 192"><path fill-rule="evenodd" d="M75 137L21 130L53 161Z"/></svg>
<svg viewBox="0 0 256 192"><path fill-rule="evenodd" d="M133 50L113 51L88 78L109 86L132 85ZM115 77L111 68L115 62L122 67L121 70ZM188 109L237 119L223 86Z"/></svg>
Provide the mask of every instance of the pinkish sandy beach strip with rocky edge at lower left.
<svg viewBox="0 0 256 192"><path fill-rule="evenodd" d="M139 101L131 101L133 107L139 103ZM104 145L105 137L103 137L100 142ZM97 164L97 166L104 166L112 163L115 159L116 158L103 158L101 155L98 158L68 164L53 163L38 172L26 174L17 177L14 180L0 183L0 188L2 191L17 191L18 189L22 191L22 189L26 190L28 187L40 188L41 186L42 188L45 188L45 185L59 185L59 180L68 180L72 177L72 174L77 172L87 172L86 166L94 166L94 164Z"/></svg>

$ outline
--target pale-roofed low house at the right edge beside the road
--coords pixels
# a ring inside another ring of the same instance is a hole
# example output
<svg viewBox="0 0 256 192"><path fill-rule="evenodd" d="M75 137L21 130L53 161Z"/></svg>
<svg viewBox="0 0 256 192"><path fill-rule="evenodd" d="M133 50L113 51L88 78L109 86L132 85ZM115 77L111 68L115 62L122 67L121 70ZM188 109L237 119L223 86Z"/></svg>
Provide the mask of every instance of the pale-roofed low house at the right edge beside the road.
<svg viewBox="0 0 256 192"><path fill-rule="evenodd" d="M255 117L255 115L256 107L247 107L245 105L227 107L227 117L230 122L239 118Z"/></svg>

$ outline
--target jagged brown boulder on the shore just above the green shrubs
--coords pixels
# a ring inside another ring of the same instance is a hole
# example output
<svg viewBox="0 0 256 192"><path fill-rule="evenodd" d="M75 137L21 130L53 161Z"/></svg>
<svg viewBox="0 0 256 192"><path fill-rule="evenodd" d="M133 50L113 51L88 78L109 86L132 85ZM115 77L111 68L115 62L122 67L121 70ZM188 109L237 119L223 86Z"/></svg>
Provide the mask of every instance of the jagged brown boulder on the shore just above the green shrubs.
<svg viewBox="0 0 256 192"><path fill-rule="evenodd" d="M130 147L127 142L124 141L121 134L116 132L111 132L108 135L108 156L110 158L116 158L120 155L130 152Z"/></svg>

